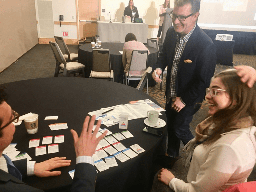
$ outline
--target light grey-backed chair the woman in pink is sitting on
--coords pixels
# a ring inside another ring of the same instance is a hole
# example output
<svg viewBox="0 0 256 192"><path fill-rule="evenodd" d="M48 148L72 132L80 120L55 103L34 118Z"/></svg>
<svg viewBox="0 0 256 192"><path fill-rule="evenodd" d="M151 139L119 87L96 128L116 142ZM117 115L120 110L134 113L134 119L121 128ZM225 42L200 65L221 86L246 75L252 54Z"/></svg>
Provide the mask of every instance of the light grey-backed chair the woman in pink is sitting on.
<svg viewBox="0 0 256 192"><path fill-rule="evenodd" d="M148 50L133 50L128 72L124 72L123 83L129 85L130 80L141 80L147 69ZM148 80L147 80L148 94Z"/></svg>

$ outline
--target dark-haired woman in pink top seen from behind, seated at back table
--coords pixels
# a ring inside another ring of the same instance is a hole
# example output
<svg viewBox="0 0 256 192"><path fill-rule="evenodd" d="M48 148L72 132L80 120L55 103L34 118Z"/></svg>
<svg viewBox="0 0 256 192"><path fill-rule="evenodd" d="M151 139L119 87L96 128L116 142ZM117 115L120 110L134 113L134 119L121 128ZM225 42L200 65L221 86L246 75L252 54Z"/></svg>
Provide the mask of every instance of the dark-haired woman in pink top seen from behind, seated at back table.
<svg viewBox="0 0 256 192"><path fill-rule="evenodd" d="M124 41L124 48L123 48L123 66L124 66L124 72L129 71L130 63L131 63L131 57L132 57L132 51L135 50L148 50L148 48L141 42L138 42L136 39L136 36L133 33L128 33L125 36ZM149 55L149 51L148 51ZM130 71L131 75L138 75L136 72Z"/></svg>

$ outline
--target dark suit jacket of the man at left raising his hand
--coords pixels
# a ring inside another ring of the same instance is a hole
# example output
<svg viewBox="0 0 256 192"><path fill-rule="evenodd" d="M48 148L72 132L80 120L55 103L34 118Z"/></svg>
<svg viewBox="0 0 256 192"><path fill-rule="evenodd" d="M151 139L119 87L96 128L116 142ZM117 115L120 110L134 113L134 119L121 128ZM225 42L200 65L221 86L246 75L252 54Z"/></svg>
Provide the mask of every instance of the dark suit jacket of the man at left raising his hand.
<svg viewBox="0 0 256 192"><path fill-rule="evenodd" d="M17 165L17 168L23 164L26 167L26 169L24 169L23 167L22 170L27 170L27 162L24 163L24 161L19 160L16 162L13 161L13 163L15 164L15 166ZM97 172L94 166L92 166L89 163L78 163L76 164L75 170L76 171L75 171L74 179L72 182L71 192L95 191L95 178L96 178ZM27 173L25 173L24 176L26 175ZM22 177L23 177L23 174L22 174ZM34 187L27 185L26 183L23 183L16 177L0 169L0 192L23 192L23 191L24 192L32 192L32 191L43 192L40 189L36 189Z"/></svg>

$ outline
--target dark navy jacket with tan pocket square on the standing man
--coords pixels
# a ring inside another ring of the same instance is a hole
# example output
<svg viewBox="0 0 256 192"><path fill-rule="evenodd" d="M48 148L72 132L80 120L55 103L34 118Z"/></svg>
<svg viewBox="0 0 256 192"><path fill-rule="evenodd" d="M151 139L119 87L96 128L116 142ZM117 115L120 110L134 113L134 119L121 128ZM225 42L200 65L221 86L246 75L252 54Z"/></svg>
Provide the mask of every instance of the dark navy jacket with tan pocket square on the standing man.
<svg viewBox="0 0 256 192"><path fill-rule="evenodd" d="M170 73L175 56L176 37L177 33L172 26L166 32L163 49L157 60L157 67L162 70L168 65L165 95L170 89ZM185 63L184 60L187 59L191 60L192 63ZM177 97L181 97L187 106L202 102L205 97L205 90L209 87L210 79L214 75L215 66L215 46L211 38L196 25L186 43L178 65L175 84Z"/></svg>

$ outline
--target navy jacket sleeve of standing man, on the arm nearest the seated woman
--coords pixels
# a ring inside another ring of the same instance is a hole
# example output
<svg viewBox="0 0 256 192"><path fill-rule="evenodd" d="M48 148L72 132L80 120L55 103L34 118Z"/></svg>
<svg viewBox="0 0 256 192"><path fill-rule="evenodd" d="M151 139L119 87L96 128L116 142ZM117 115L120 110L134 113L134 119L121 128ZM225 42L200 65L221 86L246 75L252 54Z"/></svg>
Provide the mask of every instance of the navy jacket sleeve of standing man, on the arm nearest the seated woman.
<svg viewBox="0 0 256 192"><path fill-rule="evenodd" d="M197 99L205 93L209 87L210 80L214 75L216 66L216 49L213 43L206 46L196 61L196 81L182 94L182 100L186 105L193 105Z"/></svg>

